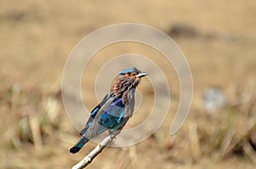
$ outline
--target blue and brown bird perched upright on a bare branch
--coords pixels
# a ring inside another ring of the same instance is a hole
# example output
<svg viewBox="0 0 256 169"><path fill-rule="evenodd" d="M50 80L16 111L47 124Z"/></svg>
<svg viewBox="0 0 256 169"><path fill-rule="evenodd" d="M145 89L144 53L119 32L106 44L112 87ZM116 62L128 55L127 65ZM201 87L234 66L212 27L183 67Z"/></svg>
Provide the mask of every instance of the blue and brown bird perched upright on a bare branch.
<svg viewBox="0 0 256 169"><path fill-rule="evenodd" d="M119 134L133 115L136 87L143 76L148 76L148 73L136 67L119 72L109 93L91 110L90 117L80 132L82 137L70 149L70 153L79 152L91 138L107 130L114 138Z"/></svg>

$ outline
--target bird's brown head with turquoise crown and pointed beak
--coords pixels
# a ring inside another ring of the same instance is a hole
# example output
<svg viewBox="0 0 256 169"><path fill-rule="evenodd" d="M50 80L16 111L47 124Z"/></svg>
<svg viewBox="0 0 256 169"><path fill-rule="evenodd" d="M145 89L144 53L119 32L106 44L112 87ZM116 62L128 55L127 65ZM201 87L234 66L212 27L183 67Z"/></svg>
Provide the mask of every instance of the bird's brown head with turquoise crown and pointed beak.
<svg viewBox="0 0 256 169"><path fill-rule="evenodd" d="M120 71L112 87L113 93L119 97L125 91L136 88L143 76L148 76L148 73L136 67Z"/></svg>

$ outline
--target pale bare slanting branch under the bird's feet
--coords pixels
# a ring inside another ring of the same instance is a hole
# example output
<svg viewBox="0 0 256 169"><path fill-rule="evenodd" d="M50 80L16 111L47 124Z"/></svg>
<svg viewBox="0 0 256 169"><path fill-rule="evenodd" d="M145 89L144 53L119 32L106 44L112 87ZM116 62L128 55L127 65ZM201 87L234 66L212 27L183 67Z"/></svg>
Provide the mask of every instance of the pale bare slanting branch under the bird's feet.
<svg viewBox="0 0 256 169"><path fill-rule="evenodd" d="M102 143L98 144L95 149L90 151L89 155L86 155L82 161L79 161L78 164L72 167L72 169L81 169L85 166L88 166L94 158L99 155L105 147L112 142L119 133L112 133L102 140Z"/></svg>

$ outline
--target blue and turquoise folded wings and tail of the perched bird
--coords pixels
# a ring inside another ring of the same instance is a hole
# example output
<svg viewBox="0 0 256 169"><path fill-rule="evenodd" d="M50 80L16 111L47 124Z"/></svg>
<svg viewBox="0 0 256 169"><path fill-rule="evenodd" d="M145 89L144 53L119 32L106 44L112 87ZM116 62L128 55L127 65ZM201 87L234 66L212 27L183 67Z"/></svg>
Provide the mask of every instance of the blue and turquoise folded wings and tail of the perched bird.
<svg viewBox="0 0 256 169"><path fill-rule="evenodd" d="M106 95L102 102L90 112L90 118L86 122L84 129L80 132L82 138L70 149L71 153L77 153L90 138L108 129L119 130L125 126L129 120L129 117L125 117L125 104L123 104L121 98L113 98L113 94ZM113 101L108 105L106 110L102 111L102 107L108 104L109 100Z"/></svg>

